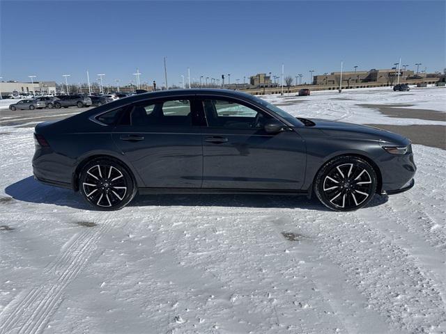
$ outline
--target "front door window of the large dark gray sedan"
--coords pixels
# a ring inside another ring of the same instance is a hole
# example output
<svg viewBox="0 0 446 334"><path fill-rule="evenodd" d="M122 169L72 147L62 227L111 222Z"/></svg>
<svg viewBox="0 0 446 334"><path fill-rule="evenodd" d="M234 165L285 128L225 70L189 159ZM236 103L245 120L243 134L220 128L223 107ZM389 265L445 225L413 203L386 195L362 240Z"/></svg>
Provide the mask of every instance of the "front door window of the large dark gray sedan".
<svg viewBox="0 0 446 334"><path fill-rule="evenodd" d="M259 129L271 118L249 106L226 100L204 100L203 109L210 127Z"/></svg>

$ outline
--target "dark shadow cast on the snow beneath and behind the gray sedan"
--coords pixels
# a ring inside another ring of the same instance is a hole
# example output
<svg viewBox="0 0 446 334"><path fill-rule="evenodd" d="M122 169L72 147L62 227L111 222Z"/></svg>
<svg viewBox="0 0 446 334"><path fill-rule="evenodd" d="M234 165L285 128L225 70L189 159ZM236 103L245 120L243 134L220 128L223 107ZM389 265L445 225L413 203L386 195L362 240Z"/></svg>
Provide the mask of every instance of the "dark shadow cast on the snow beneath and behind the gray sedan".
<svg viewBox="0 0 446 334"><path fill-rule="evenodd" d="M75 209L94 210L84 202L79 193L70 189L47 186L34 180L32 176L10 184L5 189L6 194L15 200L31 203L53 204ZM387 196L374 196L367 207L376 207L387 202ZM143 206L184 206L184 207L259 207L284 209L311 209L317 211L330 211L316 198L308 199L306 196L256 195L256 194L182 194L182 195L139 195L128 207Z"/></svg>

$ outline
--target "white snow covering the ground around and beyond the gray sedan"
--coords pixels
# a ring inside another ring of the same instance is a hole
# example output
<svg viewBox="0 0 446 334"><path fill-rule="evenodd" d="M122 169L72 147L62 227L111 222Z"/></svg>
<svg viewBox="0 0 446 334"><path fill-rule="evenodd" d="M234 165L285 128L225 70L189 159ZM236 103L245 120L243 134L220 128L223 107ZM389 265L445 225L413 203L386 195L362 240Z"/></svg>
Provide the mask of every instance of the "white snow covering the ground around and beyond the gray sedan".
<svg viewBox="0 0 446 334"><path fill-rule="evenodd" d="M266 99L300 116L446 125L356 105L445 112L445 93ZM445 150L414 145L415 187L357 212L140 196L104 213L33 180L31 128L0 127L0 147L0 333L446 333Z"/></svg>

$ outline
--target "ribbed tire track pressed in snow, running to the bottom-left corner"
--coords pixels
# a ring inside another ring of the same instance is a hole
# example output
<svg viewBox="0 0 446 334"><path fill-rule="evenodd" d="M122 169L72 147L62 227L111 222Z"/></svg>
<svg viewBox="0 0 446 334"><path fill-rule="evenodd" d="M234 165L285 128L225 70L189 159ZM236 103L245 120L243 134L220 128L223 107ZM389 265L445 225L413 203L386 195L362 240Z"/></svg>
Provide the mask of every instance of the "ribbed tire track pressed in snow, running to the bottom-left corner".
<svg viewBox="0 0 446 334"><path fill-rule="evenodd" d="M105 219L98 229L79 232L68 241L70 246L45 268L43 275L49 276L47 283L19 294L3 310L0 333L41 333L63 301L63 291L84 269L98 240L112 225Z"/></svg>

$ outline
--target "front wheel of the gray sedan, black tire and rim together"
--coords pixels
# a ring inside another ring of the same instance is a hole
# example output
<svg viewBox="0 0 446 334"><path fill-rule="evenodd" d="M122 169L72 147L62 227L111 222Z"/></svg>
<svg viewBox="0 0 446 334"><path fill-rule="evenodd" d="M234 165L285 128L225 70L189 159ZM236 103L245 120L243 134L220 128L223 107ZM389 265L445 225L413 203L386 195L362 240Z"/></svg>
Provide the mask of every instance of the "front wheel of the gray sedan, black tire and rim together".
<svg viewBox="0 0 446 334"><path fill-rule="evenodd" d="M314 192L325 207L354 211L367 205L376 192L376 172L359 157L337 157L317 173Z"/></svg>

